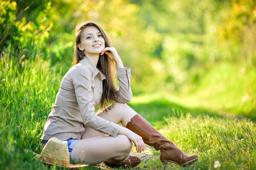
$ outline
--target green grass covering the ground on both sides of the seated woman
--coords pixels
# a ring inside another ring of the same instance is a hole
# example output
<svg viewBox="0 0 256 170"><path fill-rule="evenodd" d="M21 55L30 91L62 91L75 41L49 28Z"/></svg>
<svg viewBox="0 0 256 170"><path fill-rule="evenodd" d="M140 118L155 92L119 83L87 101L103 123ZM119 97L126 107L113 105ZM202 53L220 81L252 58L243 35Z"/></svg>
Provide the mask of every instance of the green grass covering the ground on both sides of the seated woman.
<svg viewBox="0 0 256 170"><path fill-rule="evenodd" d="M40 137L63 72L40 58L19 62L9 59L8 55L0 59L0 70L0 169L62 169L49 167L23 150L41 152ZM209 76L214 73L216 71L209 73ZM248 76L252 75L255 76L253 71ZM253 118L253 109L241 116L240 113L248 109L246 105L236 107L234 101L240 96L232 94L227 103L234 104L224 107L223 101L227 98L218 96L214 88L208 87L215 94L212 95L213 102L207 102L203 97L210 94L208 90L207 95L200 91L180 96L166 92L144 94L134 96L129 105L185 153L198 154L199 160L194 165L181 168L169 164L169 169L212 170L216 169L215 161L220 162L217 169L256 169L256 126L254 120L247 118ZM230 89L229 86L224 87ZM137 169L163 169L158 158L159 151L153 154L154 159L142 162Z"/></svg>

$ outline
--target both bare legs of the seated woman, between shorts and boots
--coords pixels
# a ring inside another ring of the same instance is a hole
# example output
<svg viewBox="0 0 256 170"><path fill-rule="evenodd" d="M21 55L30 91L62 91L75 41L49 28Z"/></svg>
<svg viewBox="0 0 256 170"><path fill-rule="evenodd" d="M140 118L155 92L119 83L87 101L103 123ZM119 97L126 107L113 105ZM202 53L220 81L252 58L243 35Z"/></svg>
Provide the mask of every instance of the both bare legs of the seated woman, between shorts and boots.
<svg viewBox="0 0 256 170"><path fill-rule="evenodd" d="M115 102L111 110L104 110L97 115L110 122L126 126L131 118L137 113L127 104ZM71 157L90 164L99 164L112 159L121 160L126 158L132 148L131 141L125 135L118 134L115 138L105 133L100 133L90 127L84 126L81 140L76 142Z"/></svg>

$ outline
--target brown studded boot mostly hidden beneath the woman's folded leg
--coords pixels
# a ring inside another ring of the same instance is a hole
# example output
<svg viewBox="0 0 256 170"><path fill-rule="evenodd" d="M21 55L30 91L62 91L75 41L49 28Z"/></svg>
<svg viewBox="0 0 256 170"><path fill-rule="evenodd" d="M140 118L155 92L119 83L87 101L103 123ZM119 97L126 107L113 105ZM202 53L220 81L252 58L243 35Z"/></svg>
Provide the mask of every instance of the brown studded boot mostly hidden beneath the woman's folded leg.
<svg viewBox="0 0 256 170"><path fill-rule="evenodd" d="M113 159L115 163L108 163L107 161L104 162L105 165L109 167L136 167L138 164L140 164L141 159L138 156L128 155L125 159L122 160L116 160Z"/></svg>

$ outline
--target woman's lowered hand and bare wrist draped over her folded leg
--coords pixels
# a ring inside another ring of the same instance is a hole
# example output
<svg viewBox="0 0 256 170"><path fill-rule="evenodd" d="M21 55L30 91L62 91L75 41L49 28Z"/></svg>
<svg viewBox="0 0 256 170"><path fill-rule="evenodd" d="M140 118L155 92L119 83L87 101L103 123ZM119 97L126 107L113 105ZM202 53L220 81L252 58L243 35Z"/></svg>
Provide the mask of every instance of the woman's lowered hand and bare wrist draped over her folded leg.
<svg viewBox="0 0 256 170"><path fill-rule="evenodd" d="M137 135L136 133L125 127L121 128L119 134L126 135L132 142L134 142L137 152L141 153L142 151L144 151L144 142L141 136Z"/></svg>

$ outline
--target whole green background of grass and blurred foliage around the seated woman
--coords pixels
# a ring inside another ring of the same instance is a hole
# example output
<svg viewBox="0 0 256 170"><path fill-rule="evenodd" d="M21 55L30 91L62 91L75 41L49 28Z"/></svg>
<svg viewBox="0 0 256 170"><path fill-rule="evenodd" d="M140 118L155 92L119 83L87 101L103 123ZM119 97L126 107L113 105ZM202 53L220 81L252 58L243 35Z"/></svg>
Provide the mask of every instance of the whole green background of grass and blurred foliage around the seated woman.
<svg viewBox="0 0 256 170"><path fill-rule="evenodd" d="M23 150L41 152L87 20L131 67L128 105L197 168L256 167L255 0L0 0L0 169L48 169Z"/></svg>

